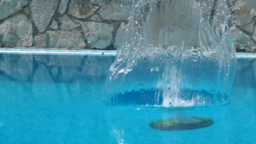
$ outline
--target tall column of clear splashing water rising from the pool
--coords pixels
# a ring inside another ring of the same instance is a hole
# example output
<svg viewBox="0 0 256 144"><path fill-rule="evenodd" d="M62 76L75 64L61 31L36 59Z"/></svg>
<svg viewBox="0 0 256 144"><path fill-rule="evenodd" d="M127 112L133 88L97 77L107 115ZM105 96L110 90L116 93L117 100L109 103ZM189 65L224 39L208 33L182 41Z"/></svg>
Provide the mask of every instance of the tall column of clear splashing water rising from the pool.
<svg viewBox="0 0 256 144"><path fill-rule="evenodd" d="M226 104L236 63L228 1L132 3L125 43L109 72L112 105Z"/></svg>

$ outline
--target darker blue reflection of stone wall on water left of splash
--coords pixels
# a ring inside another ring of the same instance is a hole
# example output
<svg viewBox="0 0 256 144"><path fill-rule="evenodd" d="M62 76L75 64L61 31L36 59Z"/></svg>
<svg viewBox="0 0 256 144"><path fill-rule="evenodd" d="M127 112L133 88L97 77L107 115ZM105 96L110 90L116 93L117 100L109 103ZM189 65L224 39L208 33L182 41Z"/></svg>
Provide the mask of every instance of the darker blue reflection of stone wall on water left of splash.
<svg viewBox="0 0 256 144"><path fill-rule="evenodd" d="M106 76L115 56L0 54L1 79L73 82Z"/></svg>

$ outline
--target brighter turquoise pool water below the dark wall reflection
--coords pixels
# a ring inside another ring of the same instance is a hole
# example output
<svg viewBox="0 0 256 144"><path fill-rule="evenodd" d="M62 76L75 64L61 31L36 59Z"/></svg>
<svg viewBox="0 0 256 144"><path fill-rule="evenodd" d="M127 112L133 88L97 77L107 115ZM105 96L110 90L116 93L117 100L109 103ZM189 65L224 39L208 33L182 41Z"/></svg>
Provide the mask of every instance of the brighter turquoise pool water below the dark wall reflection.
<svg viewBox="0 0 256 144"><path fill-rule="evenodd" d="M248 144L256 143L256 90L237 85L230 104L208 109L111 107L105 79L77 83L0 81L0 144ZM93 82L94 81L94 82ZM173 115L208 117L196 130L157 131Z"/></svg>

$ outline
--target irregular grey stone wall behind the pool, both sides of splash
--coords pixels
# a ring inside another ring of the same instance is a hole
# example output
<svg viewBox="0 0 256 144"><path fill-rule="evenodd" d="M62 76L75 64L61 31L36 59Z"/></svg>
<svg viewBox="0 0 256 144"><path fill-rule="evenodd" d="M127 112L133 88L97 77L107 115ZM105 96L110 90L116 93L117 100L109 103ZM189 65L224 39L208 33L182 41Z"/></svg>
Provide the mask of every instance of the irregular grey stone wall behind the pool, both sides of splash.
<svg viewBox="0 0 256 144"><path fill-rule="evenodd" d="M117 49L131 1L0 0L0 47ZM237 51L255 52L256 0L227 3Z"/></svg>

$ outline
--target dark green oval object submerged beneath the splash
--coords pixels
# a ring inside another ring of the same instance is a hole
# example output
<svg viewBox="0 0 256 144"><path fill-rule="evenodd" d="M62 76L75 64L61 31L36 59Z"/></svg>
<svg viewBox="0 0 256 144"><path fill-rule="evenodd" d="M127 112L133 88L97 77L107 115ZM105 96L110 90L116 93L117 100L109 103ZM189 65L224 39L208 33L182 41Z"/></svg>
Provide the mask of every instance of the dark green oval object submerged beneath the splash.
<svg viewBox="0 0 256 144"><path fill-rule="evenodd" d="M173 117L166 120L157 120L149 124L151 128L160 131L181 131L208 127L213 120L196 116Z"/></svg>

